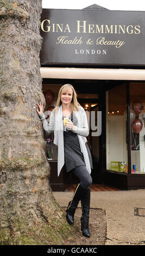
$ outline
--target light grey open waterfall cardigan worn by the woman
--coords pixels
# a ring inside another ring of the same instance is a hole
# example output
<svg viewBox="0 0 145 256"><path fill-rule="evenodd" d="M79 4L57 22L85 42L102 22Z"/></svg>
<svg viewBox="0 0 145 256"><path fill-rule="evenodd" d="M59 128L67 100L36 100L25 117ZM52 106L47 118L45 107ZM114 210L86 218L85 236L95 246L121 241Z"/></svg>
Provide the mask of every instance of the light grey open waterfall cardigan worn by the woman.
<svg viewBox="0 0 145 256"><path fill-rule="evenodd" d="M62 123L62 105L58 108L55 108L51 113L49 124L46 121L44 113L40 115L40 119L42 121L43 129L49 135L52 131L54 131L54 144L58 146L58 176L60 171L65 163L64 156L64 129ZM78 119L77 126L74 126L73 132L77 133L80 143L81 152L84 155L86 169L89 173L91 173L91 166L89 161L89 155L87 153L86 145L87 142L86 137L89 135L89 127L87 123L86 113L83 107L79 106L78 111L74 111L73 114Z"/></svg>

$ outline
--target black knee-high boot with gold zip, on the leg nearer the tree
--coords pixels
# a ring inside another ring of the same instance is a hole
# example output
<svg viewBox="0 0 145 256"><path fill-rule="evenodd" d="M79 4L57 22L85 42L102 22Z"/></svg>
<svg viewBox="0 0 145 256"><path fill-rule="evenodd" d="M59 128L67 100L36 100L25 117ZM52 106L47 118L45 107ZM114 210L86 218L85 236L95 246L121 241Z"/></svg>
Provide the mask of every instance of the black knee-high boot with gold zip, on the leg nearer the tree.
<svg viewBox="0 0 145 256"><path fill-rule="evenodd" d="M66 219L68 224L73 224L74 223L74 214L75 210L77 209L77 206L79 204L79 200L83 197L83 195L86 193L86 190L81 187L80 184L75 188L74 194L72 201L69 202L68 207L66 209Z"/></svg>

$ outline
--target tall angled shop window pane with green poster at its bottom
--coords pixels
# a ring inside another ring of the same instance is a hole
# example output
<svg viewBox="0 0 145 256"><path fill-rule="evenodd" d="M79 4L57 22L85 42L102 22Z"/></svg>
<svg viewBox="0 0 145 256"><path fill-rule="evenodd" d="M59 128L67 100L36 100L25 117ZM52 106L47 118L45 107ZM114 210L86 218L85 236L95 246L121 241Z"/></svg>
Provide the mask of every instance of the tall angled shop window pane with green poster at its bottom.
<svg viewBox="0 0 145 256"><path fill-rule="evenodd" d="M126 84L106 92L106 169L128 173Z"/></svg>

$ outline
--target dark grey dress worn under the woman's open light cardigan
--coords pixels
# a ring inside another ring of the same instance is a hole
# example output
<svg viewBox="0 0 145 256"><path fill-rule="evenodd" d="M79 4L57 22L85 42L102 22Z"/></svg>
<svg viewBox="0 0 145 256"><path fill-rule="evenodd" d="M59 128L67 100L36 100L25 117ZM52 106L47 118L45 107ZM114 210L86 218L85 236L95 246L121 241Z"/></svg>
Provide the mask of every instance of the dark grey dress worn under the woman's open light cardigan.
<svg viewBox="0 0 145 256"><path fill-rule="evenodd" d="M73 113L70 115L69 119L73 122L75 126L77 126L77 118ZM93 166L92 166L91 152L87 143L85 145L86 145L87 153L89 155L90 166L92 169ZM65 166L66 166L67 172L70 172L70 170L72 170L77 166L82 166L82 165L85 166L84 156L83 156L83 153L81 153L80 143L79 143L77 133L74 133L71 130L65 131L65 126L64 126L64 155L65 155Z"/></svg>

